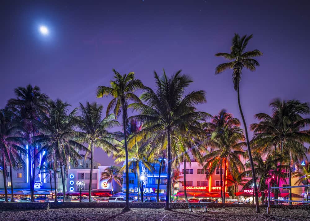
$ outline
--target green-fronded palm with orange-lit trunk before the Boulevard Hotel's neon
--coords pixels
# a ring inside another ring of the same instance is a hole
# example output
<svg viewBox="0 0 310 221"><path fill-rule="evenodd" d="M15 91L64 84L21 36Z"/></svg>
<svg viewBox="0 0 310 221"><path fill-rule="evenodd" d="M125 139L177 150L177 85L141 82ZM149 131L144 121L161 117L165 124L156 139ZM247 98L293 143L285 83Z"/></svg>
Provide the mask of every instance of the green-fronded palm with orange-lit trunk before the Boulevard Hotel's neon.
<svg viewBox="0 0 310 221"><path fill-rule="evenodd" d="M224 164L224 180L221 186L223 203L225 203L228 169L232 172L243 169L240 156L244 156L242 150L242 147L245 146L244 140L245 137L240 127L225 125L222 130L211 133L211 140L208 141L208 145L215 150L201 158L201 162L206 162L203 169L208 169L208 174L212 174L218 164ZM220 168L220 170L222 169Z"/></svg>

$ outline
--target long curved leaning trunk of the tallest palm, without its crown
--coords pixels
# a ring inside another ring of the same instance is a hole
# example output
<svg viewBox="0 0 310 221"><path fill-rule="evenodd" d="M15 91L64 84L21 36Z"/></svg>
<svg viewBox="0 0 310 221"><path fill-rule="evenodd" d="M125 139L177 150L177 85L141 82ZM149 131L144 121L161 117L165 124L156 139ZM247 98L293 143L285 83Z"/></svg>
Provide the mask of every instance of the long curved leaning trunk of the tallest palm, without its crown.
<svg viewBox="0 0 310 221"><path fill-rule="evenodd" d="M254 184L256 212L260 213L259 199L258 199L258 192L257 192L257 184L256 184L256 175L255 175L254 163L253 163L253 158L252 158L252 152L251 152L251 148L250 148L248 129L246 128L246 120L244 119L242 108L241 108L241 103L240 103L239 83L237 84L237 96L238 96L239 111L240 111L240 115L241 115L241 118L242 118L242 123L243 123L243 126L244 126L244 131L246 132L246 147L247 147L247 150L248 150L249 161L250 161L251 170L252 170L252 179L253 179L253 184Z"/></svg>

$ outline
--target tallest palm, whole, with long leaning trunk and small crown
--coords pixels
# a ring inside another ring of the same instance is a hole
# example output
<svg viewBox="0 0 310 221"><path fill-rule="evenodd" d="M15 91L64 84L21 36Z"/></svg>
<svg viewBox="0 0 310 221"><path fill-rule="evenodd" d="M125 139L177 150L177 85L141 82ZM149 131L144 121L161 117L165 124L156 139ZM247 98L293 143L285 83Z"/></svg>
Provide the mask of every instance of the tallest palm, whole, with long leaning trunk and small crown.
<svg viewBox="0 0 310 221"><path fill-rule="evenodd" d="M250 140L248 136L248 130L246 127L246 120L244 119L242 108L241 108L240 89L239 89L239 83L241 80L241 74L242 74L243 67L245 67L246 69L249 69L250 71L255 71L256 67L259 66L259 63L253 58L263 55L263 53L257 49L252 50L252 51L245 51L246 46L252 37L253 35L250 35L248 37L246 35L243 37L240 37L238 34L235 34L235 36L232 38L232 46L230 47L230 53L215 54L215 56L224 57L225 59L229 60L228 63L222 63L218 65L215 69L215 74L220 74L227 69L233 69L232 80L234 83L234 89L237 91L238 106L239 106L242 122L244 125L244 130L246 133L246 146L247 146L247 150L249 154L249 160L250 160L252 172L254 175L253 180L254 180L256 212L260 213L256 177L254 173L254 164L253 164L252 153L250 149Z"/></svg>

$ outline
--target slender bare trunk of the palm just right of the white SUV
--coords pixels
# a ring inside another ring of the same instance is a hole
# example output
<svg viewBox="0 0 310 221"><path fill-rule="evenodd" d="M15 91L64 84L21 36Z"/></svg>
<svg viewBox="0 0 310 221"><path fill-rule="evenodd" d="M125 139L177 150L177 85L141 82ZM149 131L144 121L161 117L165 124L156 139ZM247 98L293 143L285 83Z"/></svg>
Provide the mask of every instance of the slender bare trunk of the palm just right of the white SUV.
<svg viewBox="0 0 310 221"><path fill-rule="evenodd" d="M126 119L125 114L127 110L125 110L125 102L122 101L122 114L123 114L123 130L124 130L124 145L125 145L125 154L126 154L126 206L123 211L130 210L129 207L129 168L128 168L128 147L127 147L127 136L126 136Z"/></svg>

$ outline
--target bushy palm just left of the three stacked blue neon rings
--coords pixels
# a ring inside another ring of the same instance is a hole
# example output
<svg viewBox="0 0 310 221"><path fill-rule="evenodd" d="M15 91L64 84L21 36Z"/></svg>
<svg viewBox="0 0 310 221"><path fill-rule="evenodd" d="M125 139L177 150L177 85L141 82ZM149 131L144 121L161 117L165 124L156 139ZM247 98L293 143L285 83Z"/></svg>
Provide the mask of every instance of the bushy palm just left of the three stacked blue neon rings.
<svg viewBox="0 0 310 221"><path fill-rule="evenodd" d="M79 151L88 149L78 141L85 140L84 133L74 131L77 125L77 109L69 112L69 104L61 100L48 103L48 119L44 127L41 127L44 135L33 137L33 146L39 146L40 152L45 151L41 164L48 158L54 158L55 166L59 164L61 181L63 185L64 201L66 196L65 175L68 173L68 163L78 165L78 159L82 157ZM55 168L55 167L54 167ZM56 175L56 170L54 171ZM55 176L56 177L56 176ZM57 196L56 196L57 197Z"/></svg>

